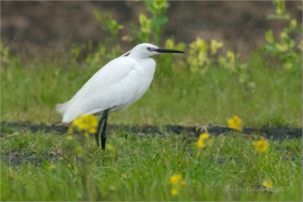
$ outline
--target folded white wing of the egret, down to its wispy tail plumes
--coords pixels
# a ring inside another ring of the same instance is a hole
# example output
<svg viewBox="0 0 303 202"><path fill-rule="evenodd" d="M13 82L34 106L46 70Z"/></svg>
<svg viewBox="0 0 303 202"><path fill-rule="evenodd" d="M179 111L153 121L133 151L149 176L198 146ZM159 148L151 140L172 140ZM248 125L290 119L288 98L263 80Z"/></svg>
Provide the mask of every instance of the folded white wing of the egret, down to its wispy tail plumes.
<svg viewBox="0 0 303 202"><path fill-rule="evenodd" d="M85 114L122 106L138 100L145 90L140 86L142 66L130 57L118 57L102 67L68 102L58 104L56 110L63 122L71 122Z"/></svg>

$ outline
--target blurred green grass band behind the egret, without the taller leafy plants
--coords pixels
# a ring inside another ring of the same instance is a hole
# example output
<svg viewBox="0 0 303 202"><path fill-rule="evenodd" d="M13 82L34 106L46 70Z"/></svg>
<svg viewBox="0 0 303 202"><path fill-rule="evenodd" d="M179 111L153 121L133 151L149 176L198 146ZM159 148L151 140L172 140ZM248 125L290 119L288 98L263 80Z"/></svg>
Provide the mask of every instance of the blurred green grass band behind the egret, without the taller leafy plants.
<svg viewBox="0 0 303 202"><path fill-rule="evenodd" d="M2 64L1 120L59 123L55 104L74 96L108 60L86 65L62 59L29 62L23 67L12 59ZM258 51L248 59L245 74L212 67L202 76L191 73L182 60L164 61L158 60L154 79L142 98L120 114L112 113L109 123L227 125L228 118L238 115L247 127L302 125L302 67L281 69L274 59L266 62ZM249 79L239 83L242 74Z"/></svg>

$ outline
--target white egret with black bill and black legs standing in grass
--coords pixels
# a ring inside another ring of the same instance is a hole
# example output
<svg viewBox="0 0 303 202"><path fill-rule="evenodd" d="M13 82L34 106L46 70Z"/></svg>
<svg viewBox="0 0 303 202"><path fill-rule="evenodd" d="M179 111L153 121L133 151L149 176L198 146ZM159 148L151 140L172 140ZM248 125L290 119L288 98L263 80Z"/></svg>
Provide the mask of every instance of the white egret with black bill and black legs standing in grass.
<svg viewBox="0 0 303 202"><path fill-rule="evenodd" d="M128 53L128 56L123 57ZM103 113L96 128L95 139L99 147L99 131L104 121L101 145L105 149L108 113L128 108L146 92L156 67L155 60L149 57L159 53L185 52L147 43L135 46L102 67L72 99L56 105L56 110L63 116L62 122L71 122L83 114Z"/></svg>

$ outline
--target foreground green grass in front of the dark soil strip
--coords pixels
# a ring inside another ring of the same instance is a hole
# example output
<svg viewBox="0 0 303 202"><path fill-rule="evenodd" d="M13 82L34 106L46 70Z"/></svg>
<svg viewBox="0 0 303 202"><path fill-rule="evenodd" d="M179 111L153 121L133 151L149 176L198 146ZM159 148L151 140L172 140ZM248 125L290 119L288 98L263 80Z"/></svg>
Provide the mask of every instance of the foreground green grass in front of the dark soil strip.
<svg viewBox="0 0 303 202"><path fill-rule="evenodd" d="M253 139L259 138L231 132L203 150L185 133L141 136L117 129L108 134L112 150L97 151L92 136L69 140L55 132L24 131L1 138L1 201L302 200L302 138L269 140L264 153L255 152ZM8 162L15 153L23 159L16 167ZM52 158L28 163L28 155ZM186 181L176 196L169 184L173 174ZM248 191L268 179L272 192Z"/></svg>

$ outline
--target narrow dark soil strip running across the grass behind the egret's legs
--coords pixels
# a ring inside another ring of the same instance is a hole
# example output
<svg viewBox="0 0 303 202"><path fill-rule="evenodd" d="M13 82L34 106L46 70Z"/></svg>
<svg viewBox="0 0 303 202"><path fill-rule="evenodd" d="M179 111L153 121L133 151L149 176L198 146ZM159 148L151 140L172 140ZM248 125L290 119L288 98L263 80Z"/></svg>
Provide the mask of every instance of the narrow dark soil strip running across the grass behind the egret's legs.
<svg viewBox="0 0 303 202"><path fill-rule="evenodd" d="M56 131L58 134L66 134L67 130L69 128L68 125L62 125L62 124L52 124L52 125L45 125L45 124L29 124L29 123L7 123L7 122L1 122L1 137L4 137L7 135L7 131L2 127L3 125L7 125L8 127L18 128L18 129L27 129L31 130L33 133L38 132L40 130L45 130L45 132L51 132ZM156 126L152 125L134 125L134 126L119 126L119 125L107 125L107 132L110 133L112 130L116 130L119 128L124 128L126 131L133 132L133 133L144 133L144 134L162 134L164 132L164 129L160 129ZM182 132L188 133L188 135L196 136L198 137L202 132L204 132L203 128L199 127L192 127L192 126L181 126L181 125L166 125L165 131L167 132L173 132L176 134L180 134ZM228 128L228 127L220 127L216 125L208 125L205 127L209 134L218 136L218 135L226 135L228 132L235 131L234 129ZM242 134L260 134L261 136L265 138L272 138L274 140L278 139L284 139L286 137L288 138L300 138L302 137L302 128L291 128L289 126L284 127L261 127L261 128L243 128L242 131L238 131Z"/></svg>

